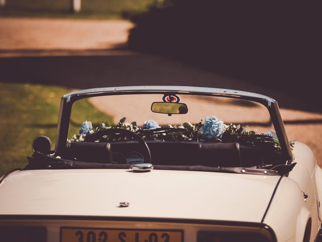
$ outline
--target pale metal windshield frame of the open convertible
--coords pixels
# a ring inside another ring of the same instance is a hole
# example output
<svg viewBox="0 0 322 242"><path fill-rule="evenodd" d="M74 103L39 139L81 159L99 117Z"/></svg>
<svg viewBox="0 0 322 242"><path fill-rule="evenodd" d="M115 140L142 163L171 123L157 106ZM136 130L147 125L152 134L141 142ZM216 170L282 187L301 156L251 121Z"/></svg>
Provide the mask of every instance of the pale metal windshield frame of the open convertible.
<svg viewBox="0 0 322 242"><path fill-rule="evenodd" d="M219 88L186 87L186 86L129 86L129 87L107 87L86 89L63 95L60 102L60 110L57 126L57 138L55 151L58 155L64 155L67 151L67 135L72 104L83 98L109 95L126 94L191 94L201 96L230 97L243 99L263 104L269 111L277 138L281 146L283 158L290 164L293 159L289 140L286 135L284 123L279 111L278 103L275 99L265 95Z"/></svg>

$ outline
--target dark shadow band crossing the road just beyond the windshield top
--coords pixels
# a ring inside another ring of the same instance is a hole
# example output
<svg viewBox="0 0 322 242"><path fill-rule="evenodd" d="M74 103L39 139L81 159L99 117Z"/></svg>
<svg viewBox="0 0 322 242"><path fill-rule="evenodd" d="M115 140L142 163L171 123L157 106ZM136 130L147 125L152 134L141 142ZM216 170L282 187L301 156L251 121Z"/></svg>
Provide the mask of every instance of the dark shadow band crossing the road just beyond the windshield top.
<svg viewBox="0 0 322 242"><path fill-rule="evenodd" d="M9 50L0 50L0 56L8 53ZM162 56L128 50L51 50L49 53L22 50L11 54L22 57L0 57L2 82L62 85L77 89L131 85L217 87L268 95L277 99L284 108L322 111L314 103L287 95L278 87L256 86Z"/></svg>

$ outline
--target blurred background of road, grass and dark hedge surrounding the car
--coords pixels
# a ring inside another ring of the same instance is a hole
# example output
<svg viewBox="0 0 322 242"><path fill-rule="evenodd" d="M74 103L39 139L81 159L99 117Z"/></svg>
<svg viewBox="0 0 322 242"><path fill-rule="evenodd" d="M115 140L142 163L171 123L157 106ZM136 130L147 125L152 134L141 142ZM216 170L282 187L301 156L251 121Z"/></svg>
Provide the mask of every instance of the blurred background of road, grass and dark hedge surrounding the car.
<svg viewBox="0 0 322 242"><path fill-rule="evenodd" d="M322 164L317 6L215 0L0 0L0 6L0 174L26 164L36 136L54 142L62 94L126 85L271 96L289 139L309 145Z"/></svg>

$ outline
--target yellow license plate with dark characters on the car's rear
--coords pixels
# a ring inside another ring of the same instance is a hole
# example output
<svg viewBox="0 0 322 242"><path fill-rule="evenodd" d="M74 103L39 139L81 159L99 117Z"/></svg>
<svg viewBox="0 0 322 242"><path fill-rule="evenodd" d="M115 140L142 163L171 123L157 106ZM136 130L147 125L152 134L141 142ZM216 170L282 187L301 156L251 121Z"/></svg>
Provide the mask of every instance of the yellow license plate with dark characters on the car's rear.
<svg viewBox="0 0 322 242"><path fill-rule="evenodd" d="M183 230L61 227L60 242L183 242Z"/></svg>

